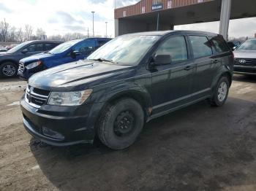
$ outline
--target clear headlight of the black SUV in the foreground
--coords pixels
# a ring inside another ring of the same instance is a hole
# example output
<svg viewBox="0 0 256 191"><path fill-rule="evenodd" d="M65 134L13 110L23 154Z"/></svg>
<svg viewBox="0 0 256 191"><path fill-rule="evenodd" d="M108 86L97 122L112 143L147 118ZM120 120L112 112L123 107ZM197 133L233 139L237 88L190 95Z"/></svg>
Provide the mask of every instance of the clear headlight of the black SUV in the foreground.
<svg viewBox="0 0 256 191"><path fill-rule="evenodd" d="M55 106L79 106L91 95L92 90L78 92L52 92L50 93L48 104Z"/></svg>

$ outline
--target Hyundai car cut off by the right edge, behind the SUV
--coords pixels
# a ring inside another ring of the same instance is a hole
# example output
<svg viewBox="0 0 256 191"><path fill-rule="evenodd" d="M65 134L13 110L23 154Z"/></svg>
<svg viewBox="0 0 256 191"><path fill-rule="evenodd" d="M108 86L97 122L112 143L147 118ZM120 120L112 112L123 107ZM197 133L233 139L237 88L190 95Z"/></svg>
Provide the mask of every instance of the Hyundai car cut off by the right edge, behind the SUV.
<svg viewBox="0 0 256 191"><path fill-rule="evenodd" d="M234 74L256 75L256 39L249 39L234 51Z"/></svg>

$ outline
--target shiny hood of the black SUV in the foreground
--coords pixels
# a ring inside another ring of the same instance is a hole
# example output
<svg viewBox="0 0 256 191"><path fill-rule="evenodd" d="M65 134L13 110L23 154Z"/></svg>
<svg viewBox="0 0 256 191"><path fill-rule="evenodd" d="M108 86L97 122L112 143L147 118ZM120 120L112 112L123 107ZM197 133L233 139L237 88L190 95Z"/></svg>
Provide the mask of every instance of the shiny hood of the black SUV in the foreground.
<svg viewBox="0 0 256 191"><path fill-rule="evenodd" d="M85 90L118 79L126 79L135 66L96 61L78 61L41 71L29 78L29 85L44 90Z"/></svg>

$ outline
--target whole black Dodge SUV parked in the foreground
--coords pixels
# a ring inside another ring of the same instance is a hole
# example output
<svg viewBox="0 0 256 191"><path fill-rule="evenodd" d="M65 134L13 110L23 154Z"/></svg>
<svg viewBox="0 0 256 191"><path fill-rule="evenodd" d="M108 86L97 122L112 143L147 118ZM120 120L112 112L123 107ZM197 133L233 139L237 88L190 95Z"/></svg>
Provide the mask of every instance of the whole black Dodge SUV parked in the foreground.
<svg viewBox="0 0 256 191"><path fill-rule="evenodd" d="M208 99L222 106L233 52L222 36L155 31L118 36L85 61L41 71L20 100L23 124L56 146L129 147L145 122Z"/></svg>

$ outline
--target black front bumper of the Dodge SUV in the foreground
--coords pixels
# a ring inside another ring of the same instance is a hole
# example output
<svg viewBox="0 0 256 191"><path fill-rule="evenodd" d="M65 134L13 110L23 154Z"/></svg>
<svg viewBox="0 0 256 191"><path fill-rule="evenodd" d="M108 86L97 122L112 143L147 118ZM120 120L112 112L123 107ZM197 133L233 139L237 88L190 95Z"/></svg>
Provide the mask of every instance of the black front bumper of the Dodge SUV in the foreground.
<svg viewBox="0 0 256 191"><path fill-rule="evenodd" d="M36 139L53 146L94 141L94 124L103 104L42 106L37 109L20 100L23 125Z"/></svg>

